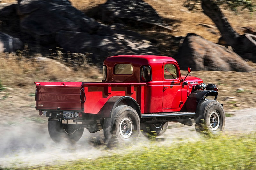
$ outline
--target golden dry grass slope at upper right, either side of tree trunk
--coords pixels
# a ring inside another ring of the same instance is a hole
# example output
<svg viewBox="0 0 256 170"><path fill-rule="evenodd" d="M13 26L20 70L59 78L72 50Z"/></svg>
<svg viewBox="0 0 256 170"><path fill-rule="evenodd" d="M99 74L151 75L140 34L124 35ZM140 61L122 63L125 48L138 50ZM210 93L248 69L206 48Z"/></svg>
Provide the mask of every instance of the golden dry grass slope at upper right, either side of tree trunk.
<svg viewBox="0 0 256 170"><path fill-rule="evenodd" d="M154 0L146 0L146 2L152 5L163 18L169 18L177 21L172 25L174 31L169 34L173 36L186 36L186 34L190 32L201 35L212 42L218 42L221 34L217 29L214 30L217 33L215 35L209 31L209 28L198 25L199 23L204 23L215 26L213 21L208 16L204 15L202 10L197 12L188 12L188 10L183 6L184 0L172 0L171 2L168 0L162 0L157 1L157 3ZM234 12L225 9L225 7L221 8L232 27L238 33L244 34L241 28L245 26L256 28L256 12L250 14L247 10L244 10L239 14L235 14Z"/></svg>

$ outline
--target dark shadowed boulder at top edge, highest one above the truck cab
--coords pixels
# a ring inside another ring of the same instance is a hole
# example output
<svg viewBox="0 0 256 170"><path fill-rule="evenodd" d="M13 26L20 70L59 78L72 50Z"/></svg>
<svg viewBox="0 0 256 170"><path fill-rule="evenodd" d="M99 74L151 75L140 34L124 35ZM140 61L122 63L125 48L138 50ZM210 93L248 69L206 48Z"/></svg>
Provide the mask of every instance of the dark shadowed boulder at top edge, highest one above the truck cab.
<svg viewBox="0 0 256 170"><path fill-rule="evenodd" d="M172 31L172 28L165 24L156 10L143 0L107 0L100 5L101 20L115 21L117 19L133 20L151 25L157 25Z"/></svg>

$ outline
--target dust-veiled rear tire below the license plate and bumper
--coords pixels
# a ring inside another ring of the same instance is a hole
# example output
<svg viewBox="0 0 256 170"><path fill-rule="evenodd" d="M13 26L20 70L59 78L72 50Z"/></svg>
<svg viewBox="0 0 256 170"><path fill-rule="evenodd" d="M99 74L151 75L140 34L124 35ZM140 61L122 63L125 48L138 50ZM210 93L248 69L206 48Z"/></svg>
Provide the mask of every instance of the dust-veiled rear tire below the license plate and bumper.
<svg viewBox="0 0 256 170"><path fill-rule="evenodd" d="M62 124L58 120L48 121L48 132L55 143L68 140L77 142L83 135L84 127L75 124Z"/></svg>

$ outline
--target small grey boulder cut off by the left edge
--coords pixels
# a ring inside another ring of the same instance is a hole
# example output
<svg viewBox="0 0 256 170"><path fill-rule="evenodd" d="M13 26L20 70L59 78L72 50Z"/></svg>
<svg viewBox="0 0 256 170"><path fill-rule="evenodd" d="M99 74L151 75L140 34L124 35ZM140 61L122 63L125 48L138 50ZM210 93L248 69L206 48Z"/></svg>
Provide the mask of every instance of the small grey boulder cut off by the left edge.
<svg viewBox="0 0 256 170"><path fill-rule="evenodd" d="M16 50L21 50L22 48L23 43L20 41L20 39L0 32L0 53L15 52Z"/></svg>

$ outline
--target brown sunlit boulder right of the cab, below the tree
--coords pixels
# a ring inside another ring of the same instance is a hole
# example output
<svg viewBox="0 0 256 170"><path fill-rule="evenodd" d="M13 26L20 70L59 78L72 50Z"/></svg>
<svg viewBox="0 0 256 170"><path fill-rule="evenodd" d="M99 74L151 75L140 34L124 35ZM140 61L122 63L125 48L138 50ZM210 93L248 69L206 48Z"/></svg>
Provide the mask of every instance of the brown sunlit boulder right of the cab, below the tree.
<svg viewBox="0 0 256 170"><path fill-rule="evenodd" d="M254 71L233 50L192 33L188 33L185 37L175 59L184 70L191 67L195 71Z"/></svg>

